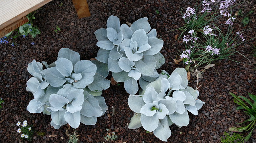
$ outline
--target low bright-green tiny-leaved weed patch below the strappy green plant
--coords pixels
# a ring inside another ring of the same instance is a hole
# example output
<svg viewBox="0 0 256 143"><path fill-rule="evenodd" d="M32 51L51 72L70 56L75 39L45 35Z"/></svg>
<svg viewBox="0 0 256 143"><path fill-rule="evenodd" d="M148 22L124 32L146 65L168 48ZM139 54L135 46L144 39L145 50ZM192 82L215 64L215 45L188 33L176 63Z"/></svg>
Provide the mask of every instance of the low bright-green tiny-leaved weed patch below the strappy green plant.
<svg viewBox="0 0 256 143"><path fill-rule="evenodd" d="M245 138L243 137L243 134L241 134L241 135L239 135L237 133L230 135L230 133L224 132L225 137L221 136L221 142L222 143L231 143L231 142L236 141L236 143L244 143Z"/></svg>

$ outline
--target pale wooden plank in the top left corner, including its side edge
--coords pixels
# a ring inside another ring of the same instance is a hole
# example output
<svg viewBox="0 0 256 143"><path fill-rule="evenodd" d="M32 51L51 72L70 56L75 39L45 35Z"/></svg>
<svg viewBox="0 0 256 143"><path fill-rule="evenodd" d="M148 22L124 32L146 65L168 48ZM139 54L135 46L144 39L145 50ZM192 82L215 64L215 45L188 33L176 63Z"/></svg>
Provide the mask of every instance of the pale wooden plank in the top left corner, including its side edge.
<svg viewBox="0 0 256 143"><path fill-rule="evenodd" d="M52 0L0 0L0 30Z"/></svg>

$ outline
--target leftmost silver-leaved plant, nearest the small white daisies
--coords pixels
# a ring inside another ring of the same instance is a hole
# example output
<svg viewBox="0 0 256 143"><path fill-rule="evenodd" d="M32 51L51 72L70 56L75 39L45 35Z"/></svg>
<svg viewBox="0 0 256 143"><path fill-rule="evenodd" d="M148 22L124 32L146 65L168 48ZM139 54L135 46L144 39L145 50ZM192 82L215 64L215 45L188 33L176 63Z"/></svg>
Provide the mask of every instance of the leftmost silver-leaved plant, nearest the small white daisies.
<svg viewBox="0 0 256 143"><path fill-rule="evenodd" d="M27 110L51 115L55 129L67 123L73 128L80 122L95 125L97 117L108 109L101 96L102 90L110 87L110 81L105 79L107 64L80 60L80 55L68 48L60 49L54 63L42 63L33 60L28 64L33 77L28 80L26 90L32 92L34 99Z"/></svg>

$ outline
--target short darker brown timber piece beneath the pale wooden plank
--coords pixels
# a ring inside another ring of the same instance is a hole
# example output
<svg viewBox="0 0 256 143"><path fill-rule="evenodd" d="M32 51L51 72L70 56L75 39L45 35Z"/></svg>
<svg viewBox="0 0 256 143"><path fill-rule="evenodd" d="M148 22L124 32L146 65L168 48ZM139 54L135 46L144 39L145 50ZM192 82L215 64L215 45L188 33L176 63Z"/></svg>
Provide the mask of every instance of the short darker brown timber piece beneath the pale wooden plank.
<svg viewBox="0 0 256 143"><path fill-rule="evenodd" d="M2 30L0 30L0 38L4 37L6 34L10 33L14 29L17 29L19 26L21 26L21 25L23 25L23 24L25 24L27 22L29 22L29 20L25 16L25 17L15 21L14 23L8 25L7 27L5 27Z"/></svg>

